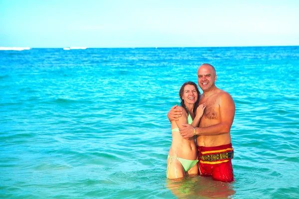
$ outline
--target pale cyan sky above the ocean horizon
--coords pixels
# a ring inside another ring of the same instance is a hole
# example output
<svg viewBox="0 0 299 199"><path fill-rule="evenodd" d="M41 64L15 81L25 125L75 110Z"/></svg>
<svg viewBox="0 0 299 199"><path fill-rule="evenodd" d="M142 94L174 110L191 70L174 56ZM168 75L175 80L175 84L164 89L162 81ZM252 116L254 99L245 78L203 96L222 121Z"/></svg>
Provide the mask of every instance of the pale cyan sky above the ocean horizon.
<svg viewBox="0 0 299 199"><path fill-rule="evenodd" d="M0 46L299 45L299 0L0 0Z"/></svg>

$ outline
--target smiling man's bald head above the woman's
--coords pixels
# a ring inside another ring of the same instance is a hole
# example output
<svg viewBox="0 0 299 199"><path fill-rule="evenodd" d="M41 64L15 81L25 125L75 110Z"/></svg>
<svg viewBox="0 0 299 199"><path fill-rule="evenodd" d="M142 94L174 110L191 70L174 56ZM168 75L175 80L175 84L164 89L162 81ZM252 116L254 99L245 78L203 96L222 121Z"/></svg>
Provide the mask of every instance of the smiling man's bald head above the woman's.
<svg viewBox="0 0 299 199"><path fill-rule="evenodd" d="M215 87L217 79L215 68L210 64L202 64L197 70L198 86L203 92Z"/></svg>

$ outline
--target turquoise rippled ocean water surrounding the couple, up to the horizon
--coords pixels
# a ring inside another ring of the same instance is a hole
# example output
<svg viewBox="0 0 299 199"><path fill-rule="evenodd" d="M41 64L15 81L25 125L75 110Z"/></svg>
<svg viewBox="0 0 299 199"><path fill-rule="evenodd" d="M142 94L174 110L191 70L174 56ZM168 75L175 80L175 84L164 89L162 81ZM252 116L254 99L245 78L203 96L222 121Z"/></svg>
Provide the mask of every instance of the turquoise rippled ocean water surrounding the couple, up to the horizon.
<svg viewBox="0 0 299 199"><path fill-rule="evenodd" d="M233 183L166 179L202 63L236 104ZM299 46L0 51L0 198L298 199Z"/></svg>

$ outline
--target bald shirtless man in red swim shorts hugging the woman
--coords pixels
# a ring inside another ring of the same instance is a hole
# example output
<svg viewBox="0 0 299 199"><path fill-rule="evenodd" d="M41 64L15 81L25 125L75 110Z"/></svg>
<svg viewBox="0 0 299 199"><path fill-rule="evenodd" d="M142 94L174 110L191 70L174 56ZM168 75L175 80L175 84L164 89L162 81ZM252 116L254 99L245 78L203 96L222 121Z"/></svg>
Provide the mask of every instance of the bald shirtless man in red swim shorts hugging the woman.
<svg viewBox="0 0 299 199"><path fill-rule="evenodd" d="M198 127L183 124L180 134L183 138L196 135L198 148L199 175L212 176L222 182L234 181L231 159L234 151L230 129L235 116L235 102L227 93L215 86L217 76L210 64L202 64L197 70L198 85L203 91L199 104L206 108ZM167 114L169 120L177 120L182 114L177 105Z"/></svg>

